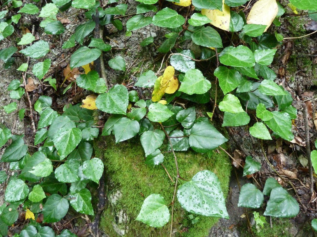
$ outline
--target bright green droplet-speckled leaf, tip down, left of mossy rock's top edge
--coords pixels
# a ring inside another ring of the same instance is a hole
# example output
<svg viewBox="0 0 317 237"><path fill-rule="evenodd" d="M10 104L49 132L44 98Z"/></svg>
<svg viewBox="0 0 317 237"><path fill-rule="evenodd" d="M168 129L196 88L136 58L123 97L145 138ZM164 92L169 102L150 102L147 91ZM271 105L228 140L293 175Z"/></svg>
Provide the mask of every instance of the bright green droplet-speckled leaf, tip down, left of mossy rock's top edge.
<svg viewBox="0 0 317 237"><path fill-rule="evenodd" d="M60 128L54 135L54 145L61 156L65 158L71 153L81 141L81 130L79 128Z"/></svg>

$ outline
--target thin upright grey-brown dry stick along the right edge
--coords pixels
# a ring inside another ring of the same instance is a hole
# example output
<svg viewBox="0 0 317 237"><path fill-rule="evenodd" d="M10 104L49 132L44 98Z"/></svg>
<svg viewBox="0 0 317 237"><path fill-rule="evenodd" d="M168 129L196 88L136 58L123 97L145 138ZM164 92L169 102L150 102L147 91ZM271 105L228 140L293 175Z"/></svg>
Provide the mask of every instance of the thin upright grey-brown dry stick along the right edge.
<svg viewBox="0 0 317 237"><path fill-rule="evenodd" d="M306 142L306 153L308 158L308 169L309 169L309 193L310 197L313 196L314 191L314 176L313 176L313 167L312 167L312 159L310 157L310 144L309 144L309 126L308 126L308 116L307 116L307 106L305 103L302 103L303 106L303 119L304 119L304 127L305 127L305 142Z"/></svg>

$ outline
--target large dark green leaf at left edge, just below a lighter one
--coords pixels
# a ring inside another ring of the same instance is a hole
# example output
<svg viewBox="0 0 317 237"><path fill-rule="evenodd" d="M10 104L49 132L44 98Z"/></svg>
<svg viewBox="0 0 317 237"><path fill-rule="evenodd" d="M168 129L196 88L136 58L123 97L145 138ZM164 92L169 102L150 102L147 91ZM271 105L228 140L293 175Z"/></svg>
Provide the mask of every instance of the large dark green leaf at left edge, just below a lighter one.
<svg viewBox="0 0 317 237"><path fill-rule="evenodd" d="M1 162L11 162L20 160L28 151L28 146L24 145L24 141L21 137L17 137L8 146L2 157Z"/></svg>

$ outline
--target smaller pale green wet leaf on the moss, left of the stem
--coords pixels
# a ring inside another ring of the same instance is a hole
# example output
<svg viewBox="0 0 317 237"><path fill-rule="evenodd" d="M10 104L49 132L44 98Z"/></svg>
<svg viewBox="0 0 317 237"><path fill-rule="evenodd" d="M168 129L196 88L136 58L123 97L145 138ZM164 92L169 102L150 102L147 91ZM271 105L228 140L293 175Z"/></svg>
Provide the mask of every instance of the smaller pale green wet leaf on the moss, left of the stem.
<svg viewBox="0 0 317 237"><path fill-rule="evenodd" d="M156 193L146 197L135 220L152 227L163 227L170 220L164 197Z"/></svg>

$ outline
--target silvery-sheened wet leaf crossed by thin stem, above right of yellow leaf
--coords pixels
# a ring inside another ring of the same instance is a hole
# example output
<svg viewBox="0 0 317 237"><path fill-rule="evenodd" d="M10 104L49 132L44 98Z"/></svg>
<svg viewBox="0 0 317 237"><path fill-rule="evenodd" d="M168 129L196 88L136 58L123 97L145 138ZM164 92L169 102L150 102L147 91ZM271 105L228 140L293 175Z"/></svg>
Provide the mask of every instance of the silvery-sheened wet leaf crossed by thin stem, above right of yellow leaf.
<svg viewBox="0 0 317 237"><path fill-rule="evenodd" d="M195 58L195 55L193 52L191 52L191 50L183 50L180 53L185 56ZM172 55L170 63L171 66L174 67L174 69L184 73L190 69L195 69L195 61L192 61L190 58L186 58L182 55Z"/></svg>

